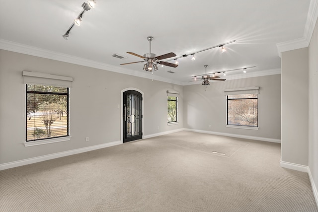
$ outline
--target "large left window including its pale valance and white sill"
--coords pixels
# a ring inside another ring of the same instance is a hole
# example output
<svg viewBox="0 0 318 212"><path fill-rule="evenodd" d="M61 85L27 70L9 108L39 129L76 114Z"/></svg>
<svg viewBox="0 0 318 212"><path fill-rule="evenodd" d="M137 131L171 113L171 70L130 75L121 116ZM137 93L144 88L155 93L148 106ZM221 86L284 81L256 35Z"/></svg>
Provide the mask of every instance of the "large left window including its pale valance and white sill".
<svg viewBox="0 0 318 212"><path fill-rule="evenodd" d="M70 141L69 89L73 77L22 71L26 84L25 146Z"/></svg>

